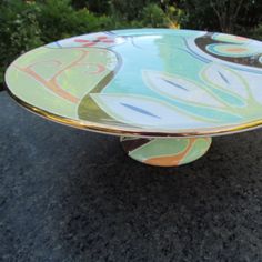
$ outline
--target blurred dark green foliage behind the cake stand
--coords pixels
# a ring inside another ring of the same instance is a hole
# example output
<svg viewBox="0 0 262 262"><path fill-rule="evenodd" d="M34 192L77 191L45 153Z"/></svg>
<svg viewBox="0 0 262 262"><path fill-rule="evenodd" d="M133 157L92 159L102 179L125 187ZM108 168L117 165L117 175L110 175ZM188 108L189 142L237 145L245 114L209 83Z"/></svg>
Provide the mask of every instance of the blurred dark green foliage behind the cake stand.
<svg viewBox="0 0 262 262"><path fill-rule="evenodd" d="M190 28L262 40L261 0L1 0L0 84L19 54L58 39L120 28Z"/></svg>

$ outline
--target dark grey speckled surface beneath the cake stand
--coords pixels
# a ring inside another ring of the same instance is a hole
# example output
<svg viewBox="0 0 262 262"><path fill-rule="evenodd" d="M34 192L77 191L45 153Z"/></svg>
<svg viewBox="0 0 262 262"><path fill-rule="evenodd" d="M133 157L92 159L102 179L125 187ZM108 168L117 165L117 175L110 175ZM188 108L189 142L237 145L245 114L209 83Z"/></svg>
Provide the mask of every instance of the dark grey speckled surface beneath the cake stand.
<svg viewBox="0 0 262 262"><path fill-rule="evenodd" d="M262 130L180 168L0 92L0 261L262 261Z"/></svg>

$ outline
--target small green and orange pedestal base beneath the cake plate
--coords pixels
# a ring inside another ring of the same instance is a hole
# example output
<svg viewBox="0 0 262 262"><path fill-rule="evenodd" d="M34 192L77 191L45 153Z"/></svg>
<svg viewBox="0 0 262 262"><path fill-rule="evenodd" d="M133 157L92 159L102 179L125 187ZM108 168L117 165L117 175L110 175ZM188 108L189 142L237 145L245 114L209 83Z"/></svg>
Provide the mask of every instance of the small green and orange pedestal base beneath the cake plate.
<svg viewBox="0 0 262 262"><path fill-rule="evenodd" d="M158 167L178 167L193 162L209 150L211 138L120 139L128 155L137 161Z"/></svg>

